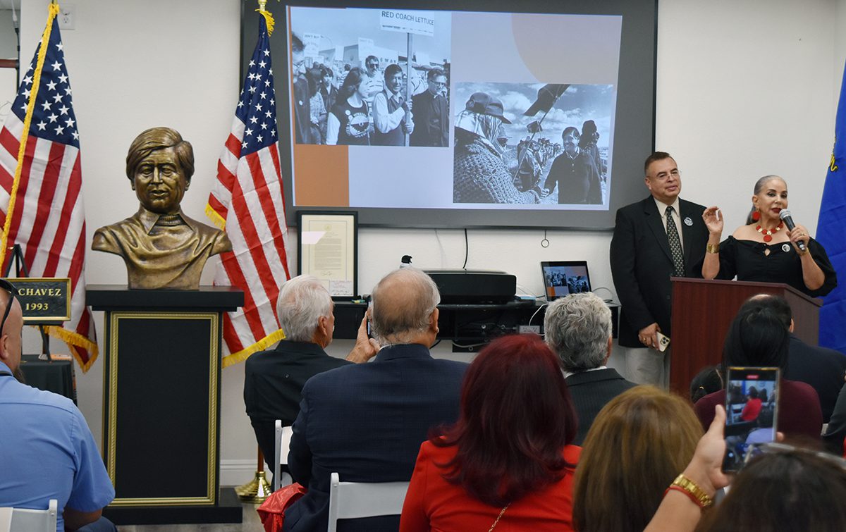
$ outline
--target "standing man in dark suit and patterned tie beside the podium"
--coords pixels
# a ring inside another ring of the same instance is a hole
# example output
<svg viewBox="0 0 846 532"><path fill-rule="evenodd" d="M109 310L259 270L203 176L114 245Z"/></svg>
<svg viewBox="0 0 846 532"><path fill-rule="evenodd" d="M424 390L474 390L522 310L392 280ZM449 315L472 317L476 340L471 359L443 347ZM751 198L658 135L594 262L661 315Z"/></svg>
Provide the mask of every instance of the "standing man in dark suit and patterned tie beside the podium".
<svg viewBox="0 0 846 532"><path fill-rule="evenodd" d="M618 340L629 348L626 376L667 387L669 352L658 350L657 333L671 336L670 277L702 277L708 229L705 207L678 198L681 174L670 154L656 151L644 169L651 196L617 211L611 274L622 305Z"/></svg>

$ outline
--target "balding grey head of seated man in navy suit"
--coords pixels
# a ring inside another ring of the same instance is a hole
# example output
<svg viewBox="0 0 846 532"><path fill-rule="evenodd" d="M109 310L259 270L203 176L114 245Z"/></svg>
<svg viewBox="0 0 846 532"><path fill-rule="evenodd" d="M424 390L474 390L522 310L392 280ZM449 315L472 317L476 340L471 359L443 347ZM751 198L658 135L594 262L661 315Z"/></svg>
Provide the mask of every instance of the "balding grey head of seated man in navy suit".
<svg viewBox="0 0 846 532"><path fill-rule="evenodd" d="M371 332L382 345L414 343L435 327L441 294L426 273L402 268L388 273L371 293Z"/></svg>

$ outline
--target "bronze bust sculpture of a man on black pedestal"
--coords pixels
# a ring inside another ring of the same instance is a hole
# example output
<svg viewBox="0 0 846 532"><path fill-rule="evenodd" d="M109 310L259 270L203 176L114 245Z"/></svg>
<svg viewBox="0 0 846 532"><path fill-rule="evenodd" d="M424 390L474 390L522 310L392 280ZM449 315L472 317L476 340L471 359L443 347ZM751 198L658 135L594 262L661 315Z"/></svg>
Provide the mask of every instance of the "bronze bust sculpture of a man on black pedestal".
<svg viewBox="0 0 846 532"><path fill-rule="evenodd" d="M129 146L126 177L140 207L134 216L97 229L91 244L124 258L129 288L196 290L208 258L232 250L226 233L179 208L193 174L194 150L173 129L147 129Z"/></svg>

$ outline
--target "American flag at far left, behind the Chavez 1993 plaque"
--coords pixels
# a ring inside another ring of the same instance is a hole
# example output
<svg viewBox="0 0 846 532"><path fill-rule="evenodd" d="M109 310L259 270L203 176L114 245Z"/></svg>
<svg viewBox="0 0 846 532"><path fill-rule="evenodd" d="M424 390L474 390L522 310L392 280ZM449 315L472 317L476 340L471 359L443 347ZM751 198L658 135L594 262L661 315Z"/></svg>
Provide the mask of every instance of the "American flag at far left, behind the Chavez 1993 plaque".
<svg viewBox="0 0 846 532"><path fill-rule="evenodd" d="M70 277L71 319L61 327L47 327L47 332L67 343L87 371L97 357L97 344L94 320L85 306L80 134L58 32L58 5L51 4L49 13L36 56L0 130L0 262L5 271L13 256L9 248L20 244L30 277Z"/></svg>

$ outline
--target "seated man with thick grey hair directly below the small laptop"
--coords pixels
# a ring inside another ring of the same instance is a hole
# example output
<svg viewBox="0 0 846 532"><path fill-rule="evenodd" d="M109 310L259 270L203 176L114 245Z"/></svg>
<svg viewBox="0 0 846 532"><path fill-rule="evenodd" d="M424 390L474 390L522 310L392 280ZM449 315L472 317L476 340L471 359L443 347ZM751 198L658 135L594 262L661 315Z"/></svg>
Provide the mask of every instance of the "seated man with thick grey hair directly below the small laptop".
<svg viewBox="0 0 846 532"><path fill-rule="evenodd" d="M596 414L608 401L637 385L606 367L611 356L611 310L594 293L571 293L547 307L547 345L558 354L579 418L574 445L585 442Z"/></svg>

